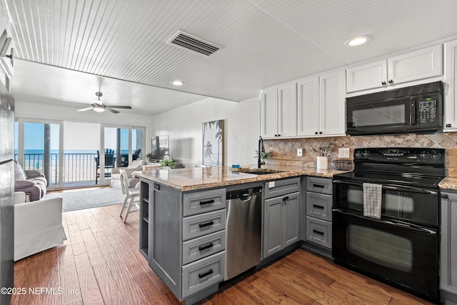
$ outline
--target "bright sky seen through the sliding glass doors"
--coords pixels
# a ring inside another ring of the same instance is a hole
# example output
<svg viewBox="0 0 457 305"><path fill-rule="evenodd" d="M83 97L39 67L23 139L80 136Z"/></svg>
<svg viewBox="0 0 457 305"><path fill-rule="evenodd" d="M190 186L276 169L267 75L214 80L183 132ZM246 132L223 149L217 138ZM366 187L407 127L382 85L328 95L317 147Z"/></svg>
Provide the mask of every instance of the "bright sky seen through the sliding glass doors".
<svg viewBox="0 0 457 305"><path fill-rule="evenodd" d="M59 149L59 124L49 124L51 128L51 149ZM18 123L15 124L14 146L17 149ZM64 150L97 151L100 147L100 125L64 122ZM136 136L134 130L133 136ZM116 128L105 128L105 147L116 149ZM44 124L24 123L24 149L44 149ZM121 150L129 149L129 129L121 129ZM136 142L133 143L133 150Z"/></svg>

